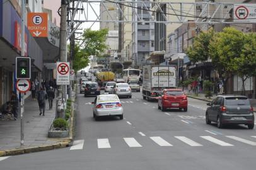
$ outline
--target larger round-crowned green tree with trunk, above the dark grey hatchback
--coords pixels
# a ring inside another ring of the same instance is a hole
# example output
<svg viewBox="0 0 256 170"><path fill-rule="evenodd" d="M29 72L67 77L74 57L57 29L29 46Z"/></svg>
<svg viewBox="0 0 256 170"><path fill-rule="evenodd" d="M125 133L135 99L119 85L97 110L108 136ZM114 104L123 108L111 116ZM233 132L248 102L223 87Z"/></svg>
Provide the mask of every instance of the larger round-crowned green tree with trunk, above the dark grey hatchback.
<svg viewBox="0 0 256 170"><path fill-rule="evenodd" d="M237 72L237 62L242 54L247 38L245 34L235 28L224 28L217 33L209 45L209 55L212 64L216 66L219 76L224 79L224 89L227 92L227 82Z"/></svg>

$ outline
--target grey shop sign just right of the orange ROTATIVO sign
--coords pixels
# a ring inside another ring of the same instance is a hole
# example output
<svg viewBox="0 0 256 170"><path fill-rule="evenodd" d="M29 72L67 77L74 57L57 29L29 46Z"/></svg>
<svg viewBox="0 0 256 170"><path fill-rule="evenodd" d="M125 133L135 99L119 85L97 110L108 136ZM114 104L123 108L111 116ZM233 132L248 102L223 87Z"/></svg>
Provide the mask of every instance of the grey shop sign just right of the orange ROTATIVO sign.
<svg viewBox="0 0 256 170"><path fill-rule="evenodd" d="M60 34L61 31L59 30L59 27L49 22L48 39L49 42L55 45L56 47L59 47Z"/></svg>

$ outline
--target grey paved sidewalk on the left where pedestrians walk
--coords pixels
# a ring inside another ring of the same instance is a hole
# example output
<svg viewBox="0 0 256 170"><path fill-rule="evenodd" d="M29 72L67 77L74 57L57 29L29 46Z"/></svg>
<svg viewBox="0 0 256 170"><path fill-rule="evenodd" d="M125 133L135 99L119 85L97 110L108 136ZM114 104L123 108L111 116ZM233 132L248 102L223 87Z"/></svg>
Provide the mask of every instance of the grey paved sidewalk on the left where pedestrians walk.
<svg viewBox="0 0 256 170"><path fill-rule="evenodd" d="M31 96L25 99L25 145L23 147L37 147L59 142L47 137L49 127L54 118L55 99L52 110L49 110L48 100L46 101L45 116L39 116L37 100L33 100ZM0 121L0 128L0 150L23 148L20 147L20 117L16 121Z"/></svg>

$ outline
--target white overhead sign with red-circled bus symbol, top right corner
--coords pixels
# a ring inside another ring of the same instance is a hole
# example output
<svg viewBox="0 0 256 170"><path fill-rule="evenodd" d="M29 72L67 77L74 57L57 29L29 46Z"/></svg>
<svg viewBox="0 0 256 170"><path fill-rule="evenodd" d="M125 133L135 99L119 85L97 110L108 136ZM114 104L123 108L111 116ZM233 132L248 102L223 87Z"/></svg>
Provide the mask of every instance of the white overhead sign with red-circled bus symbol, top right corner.
<svg viewBox="0 0 256 170"><path fill-rule="evenodd" d="M255 23L256 4L234 4L234 22Z"/></svg>

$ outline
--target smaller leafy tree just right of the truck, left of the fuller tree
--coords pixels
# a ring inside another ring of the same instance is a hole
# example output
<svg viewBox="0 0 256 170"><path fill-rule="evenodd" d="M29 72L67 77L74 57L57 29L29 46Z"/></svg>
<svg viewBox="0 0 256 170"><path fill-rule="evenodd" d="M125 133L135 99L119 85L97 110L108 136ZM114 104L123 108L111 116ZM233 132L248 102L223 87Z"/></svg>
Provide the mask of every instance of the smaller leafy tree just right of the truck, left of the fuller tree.
<svg viewBox="0 0 256 170"><path fill-rule="evenodd" d="M209 43L214 37L212 29L203 31L200 35L195 37L194 43L187 50L187 55L192 62L204 62L209 59Z"/></svg>

